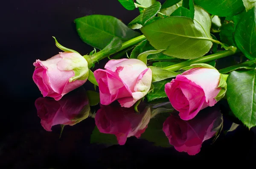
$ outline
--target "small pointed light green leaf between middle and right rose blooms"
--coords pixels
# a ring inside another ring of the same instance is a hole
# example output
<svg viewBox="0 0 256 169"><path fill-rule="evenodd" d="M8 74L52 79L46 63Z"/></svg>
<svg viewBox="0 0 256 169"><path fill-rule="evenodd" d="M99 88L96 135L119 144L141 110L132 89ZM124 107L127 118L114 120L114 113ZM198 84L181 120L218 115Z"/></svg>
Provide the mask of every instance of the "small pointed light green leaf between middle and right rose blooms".
<svg viewBox="0 0 256 169"><path fill-rule="evenodd" d="M148 66L152 70L152 82L158 82L164 79L176 77L180 73L175 73L169 70L164 70L154 66Z"/></svg>

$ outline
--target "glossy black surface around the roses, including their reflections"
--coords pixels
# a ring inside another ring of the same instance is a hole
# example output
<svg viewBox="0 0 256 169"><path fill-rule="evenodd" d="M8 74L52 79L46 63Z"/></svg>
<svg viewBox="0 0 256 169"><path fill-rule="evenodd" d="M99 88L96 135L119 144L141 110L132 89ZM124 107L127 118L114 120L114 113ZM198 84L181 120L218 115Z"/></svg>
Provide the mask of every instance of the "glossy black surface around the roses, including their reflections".
<svg viewBox="0 0 256 169"><path fill-rule="evenodd" d="M100 105L90 83L59 101L42 97L32 64L59 52L52 36L87 54L75 18L107 14L127 24L137 13L117 0L3 3L0 168L255 167L256 129L232 118L225 100L183 121L169 102L142 103L139 113Z"/></svg>

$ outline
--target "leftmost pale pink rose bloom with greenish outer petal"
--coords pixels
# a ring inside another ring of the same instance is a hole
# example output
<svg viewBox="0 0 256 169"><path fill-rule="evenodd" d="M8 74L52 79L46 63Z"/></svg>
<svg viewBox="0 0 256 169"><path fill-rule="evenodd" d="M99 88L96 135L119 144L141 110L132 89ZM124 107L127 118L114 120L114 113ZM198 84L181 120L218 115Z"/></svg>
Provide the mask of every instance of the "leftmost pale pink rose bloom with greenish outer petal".
<svg viewBox="0 0 256 169"><path fill-rule="evenodd" d="M43 96L55 100L83 85L88 78L88 64L83 56L64 52L46 61L36 60L33 80Z"/></svg>

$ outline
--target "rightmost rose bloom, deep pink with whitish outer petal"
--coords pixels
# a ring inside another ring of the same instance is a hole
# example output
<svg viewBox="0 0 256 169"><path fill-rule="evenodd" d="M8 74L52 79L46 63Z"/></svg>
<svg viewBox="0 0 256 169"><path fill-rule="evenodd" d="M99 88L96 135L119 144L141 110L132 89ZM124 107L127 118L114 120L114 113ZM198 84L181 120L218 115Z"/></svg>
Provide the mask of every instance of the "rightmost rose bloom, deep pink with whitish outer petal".
<svg viewBox="0 0 256 169"><path fill-rule="evenodd" d="M205 107L217 103L220 73L211 68L192 68L165 85L165 92L180 118L190 120ZM218 88L217 88L218 87Z"/></svg>

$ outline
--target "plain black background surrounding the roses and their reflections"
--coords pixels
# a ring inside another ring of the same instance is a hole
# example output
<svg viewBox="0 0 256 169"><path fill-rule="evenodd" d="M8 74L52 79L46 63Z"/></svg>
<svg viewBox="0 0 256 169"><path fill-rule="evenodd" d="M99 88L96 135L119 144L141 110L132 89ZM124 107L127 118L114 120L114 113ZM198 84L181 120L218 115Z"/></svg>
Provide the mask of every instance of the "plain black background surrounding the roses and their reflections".
<svg viewBox="0 0 256 169"><path fill-rule="evenodd" d="M215 144L204 143L195 156L154 147L136 138L128 138L125 146L90 144L95 126L91 118L66 127L61 139L59 127L45 131L34 106L41 93L32 80L33 62L58 54L60 50L52 36L80 54L92 51L79 39L73 23L74 19L91 14L112 15L128 24L139 12L125 10L117 0L1 2L0 168L176 168L191 163L204 168L223 163L253 166L256 134L254 129L245 127L220 137ZM84 87L91 89L92 85L86 83Z"/></svg>

